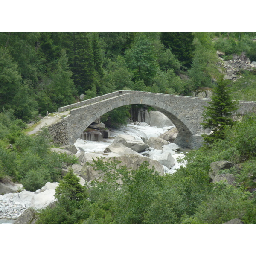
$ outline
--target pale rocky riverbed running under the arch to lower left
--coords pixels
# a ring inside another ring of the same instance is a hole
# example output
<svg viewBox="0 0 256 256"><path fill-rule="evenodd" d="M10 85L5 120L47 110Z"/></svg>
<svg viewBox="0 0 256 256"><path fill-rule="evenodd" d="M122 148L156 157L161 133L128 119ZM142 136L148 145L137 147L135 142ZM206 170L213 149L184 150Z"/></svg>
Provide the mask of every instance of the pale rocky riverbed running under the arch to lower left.
<svg viewBox="0 0 256 256"><path fill-rule="evenodd" d="M135 122L119 129L111 129L110 137L100 142L78 139L74 146L51 150L78 157L79 164L70 167L80 177L83 185L86 181L90 183L94 178L101 178L100 174L87 164L92 163L96 157L103 157L105 160L116 157L122 165L125 164L131 169L137 169L143 161L148 161L150 168L155 166L156 171L164 175L175 172L180 165L177 158L184 156L178 154L177 145L160 138L172 129L176 128L157 128L145 122ZM62 174L65 175L69 168L63 166ZM13 190L10 190L11 185ZM5 190L4 195L0 195L0 223L13 223L26 209L38 210L54 204L57 186L57 182L46 183L41 189L29 192L24 190L21 184L3 184Z"/></svg>

